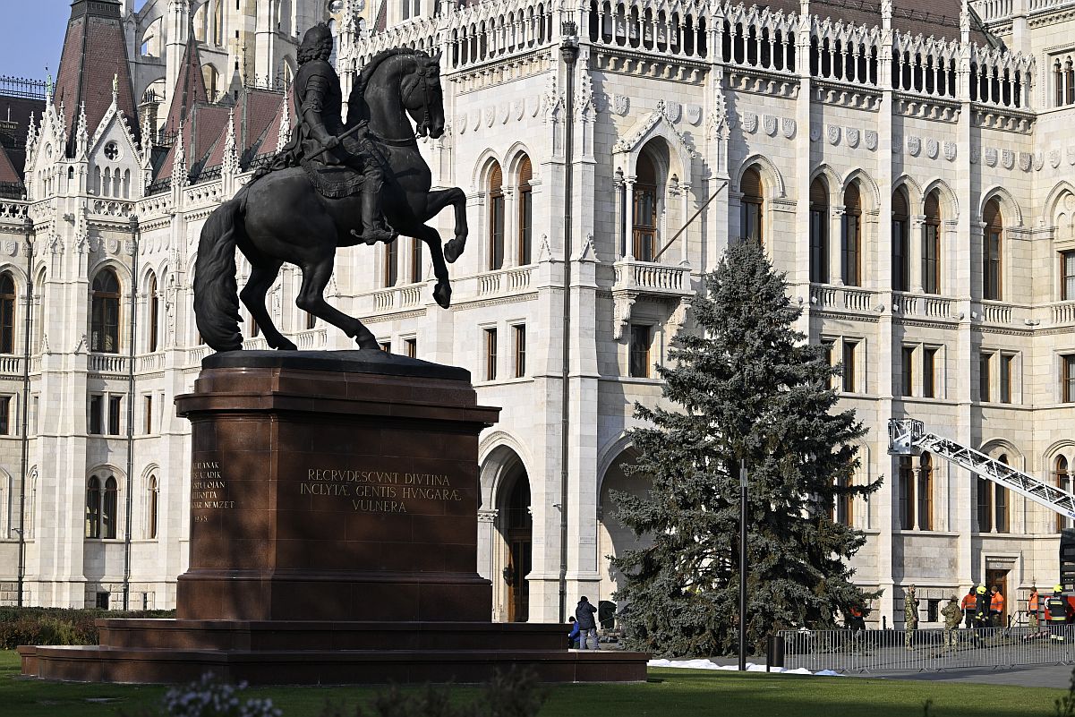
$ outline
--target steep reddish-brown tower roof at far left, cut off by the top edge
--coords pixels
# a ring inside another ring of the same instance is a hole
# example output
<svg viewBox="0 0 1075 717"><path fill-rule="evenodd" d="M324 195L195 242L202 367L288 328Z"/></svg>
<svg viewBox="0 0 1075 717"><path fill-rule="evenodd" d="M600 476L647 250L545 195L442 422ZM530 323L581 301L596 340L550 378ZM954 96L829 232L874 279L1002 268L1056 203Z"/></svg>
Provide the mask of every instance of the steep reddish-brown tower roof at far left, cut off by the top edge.
<svg viewBox="0 0 1075 717"><path fill-rule="evenodd" d="M74 127L78 109L85 103L86 125L92 132L112 105L113 78L116 103L138 140L140 128L119 2L74 0L56 76L55 102L63 105L64 124ZM72 137L68 154L73 154L74 142Z"/></svg>

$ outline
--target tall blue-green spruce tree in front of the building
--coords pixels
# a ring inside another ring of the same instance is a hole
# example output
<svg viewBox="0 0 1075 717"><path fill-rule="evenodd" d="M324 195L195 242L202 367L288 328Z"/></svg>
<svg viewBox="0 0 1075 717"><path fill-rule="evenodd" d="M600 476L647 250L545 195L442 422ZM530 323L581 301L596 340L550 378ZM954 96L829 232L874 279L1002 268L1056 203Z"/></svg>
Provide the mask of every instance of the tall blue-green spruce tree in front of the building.
<svg viewBox="0 0 1075 717"><path fill-rule="evenodd" d="M732 246L692 303L659 367L672 410L635 406L647 496L616 492L617 517L649 547L613 560L627 578L620 625L635 649L718 655L739 640L740 460L748 470L747 644L785 628L834 627L877 593L851 584L847 560L865 536L835 522L852 485L854 411L836 411L832 368L792 327L801 310L752 242Z"/></svg>

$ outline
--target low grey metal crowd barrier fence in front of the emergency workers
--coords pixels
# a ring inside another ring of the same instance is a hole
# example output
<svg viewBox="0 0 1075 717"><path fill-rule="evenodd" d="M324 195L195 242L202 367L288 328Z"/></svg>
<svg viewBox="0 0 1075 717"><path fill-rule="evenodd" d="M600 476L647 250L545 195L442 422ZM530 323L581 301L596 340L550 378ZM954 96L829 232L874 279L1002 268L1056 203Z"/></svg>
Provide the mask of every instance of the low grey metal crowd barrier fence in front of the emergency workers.
<svg viewBox="0 0 1075 717"><path fill-rule="evenodd" d="M959 630L782 630L784 666L929 672L1075 663L1075 625ZM908 644L909 637L909 644Z"/></svg>

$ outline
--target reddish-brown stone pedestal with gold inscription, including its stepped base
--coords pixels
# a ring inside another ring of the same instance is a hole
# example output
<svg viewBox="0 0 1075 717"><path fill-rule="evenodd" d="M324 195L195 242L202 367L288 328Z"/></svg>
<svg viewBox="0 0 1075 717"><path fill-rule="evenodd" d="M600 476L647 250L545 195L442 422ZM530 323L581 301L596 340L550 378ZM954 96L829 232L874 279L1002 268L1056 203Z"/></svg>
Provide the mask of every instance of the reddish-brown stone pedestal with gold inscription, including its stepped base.
<svg viewBox="0 0 1075 717"><path fill-rule="evenodd" d="M207 357L195 392L190 562L175 620L99 620L101 645L20 647L23 674L256 684L645 679L567 626L490 622L477 574L478 406L462 369L382 352Z"/></svg>

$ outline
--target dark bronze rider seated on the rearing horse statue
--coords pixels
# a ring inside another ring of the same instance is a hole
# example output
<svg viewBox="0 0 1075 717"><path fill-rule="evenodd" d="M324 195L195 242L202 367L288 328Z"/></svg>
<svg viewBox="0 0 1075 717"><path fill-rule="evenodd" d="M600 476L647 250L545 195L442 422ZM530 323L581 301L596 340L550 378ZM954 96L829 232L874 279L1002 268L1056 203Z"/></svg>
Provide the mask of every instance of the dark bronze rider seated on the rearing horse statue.
<svg viewBox="0 0 1075 717"><path fill-rule="evenodd" d="M362 233L352 234L367 244L390 242L399 234L385 223L381 209L381 188L384 172L376 148L369 138L366 120L343 139L341 115L343 95L340 76L328 59L332 55L332 33L324 23L306 31L299 46L299 71L295 77L295 104L298 124L292 139L283 149L285 166L301 164L311 174L315 186L328 197L345 197L360 184L362 192ZM327 191L319 185L318 176L332 169L347 167L360 176L345 182L343 189Z"/></svg>

